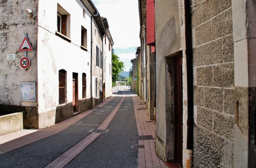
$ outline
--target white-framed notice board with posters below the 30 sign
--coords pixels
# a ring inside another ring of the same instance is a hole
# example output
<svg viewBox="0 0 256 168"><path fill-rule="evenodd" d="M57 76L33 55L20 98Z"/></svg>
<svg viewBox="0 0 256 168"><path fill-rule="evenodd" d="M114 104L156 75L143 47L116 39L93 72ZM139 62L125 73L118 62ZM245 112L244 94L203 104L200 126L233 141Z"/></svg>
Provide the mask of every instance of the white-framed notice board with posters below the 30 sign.
<svg viewBox="0 0 256 168"><path fill-rule="evenodd" d="M20 101L36 101L35 82L20 83Z"/></svg>

